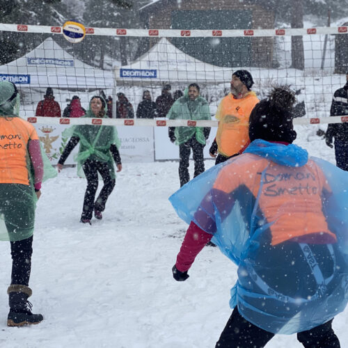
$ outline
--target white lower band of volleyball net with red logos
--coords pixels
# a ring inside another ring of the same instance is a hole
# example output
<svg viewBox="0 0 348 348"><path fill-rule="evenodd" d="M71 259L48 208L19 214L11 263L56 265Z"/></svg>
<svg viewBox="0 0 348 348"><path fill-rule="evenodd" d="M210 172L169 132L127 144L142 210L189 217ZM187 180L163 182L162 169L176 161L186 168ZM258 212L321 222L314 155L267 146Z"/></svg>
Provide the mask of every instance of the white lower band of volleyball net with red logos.
<svg viewBox="0 0 348 348"><path fill-rule="evenodd" d="M164 119L141 119L141 118L56 118L56 117L27 117L30 123L47 125L109 125L136 127L217 127L216 120L164 120ZM294 118L294 125L312 125L317 123L342 123L347 122L347 116L331 116L322 118Z"/></svg>

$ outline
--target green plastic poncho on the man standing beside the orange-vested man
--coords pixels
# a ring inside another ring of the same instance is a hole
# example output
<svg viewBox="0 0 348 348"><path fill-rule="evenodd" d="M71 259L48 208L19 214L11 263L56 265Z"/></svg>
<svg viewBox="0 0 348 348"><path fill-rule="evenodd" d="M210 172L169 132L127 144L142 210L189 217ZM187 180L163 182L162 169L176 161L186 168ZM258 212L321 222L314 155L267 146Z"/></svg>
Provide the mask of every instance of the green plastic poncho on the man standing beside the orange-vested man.
<svg viewBox="0 0 348 348"><path fill-rule="evenodd" d="M187 90L171 107L167 117L169 120L211 120L209 104L203 97L190 100ZM203 127L175 127L176 145L186 143L196 134L198 143L205 145Z"/></svg>

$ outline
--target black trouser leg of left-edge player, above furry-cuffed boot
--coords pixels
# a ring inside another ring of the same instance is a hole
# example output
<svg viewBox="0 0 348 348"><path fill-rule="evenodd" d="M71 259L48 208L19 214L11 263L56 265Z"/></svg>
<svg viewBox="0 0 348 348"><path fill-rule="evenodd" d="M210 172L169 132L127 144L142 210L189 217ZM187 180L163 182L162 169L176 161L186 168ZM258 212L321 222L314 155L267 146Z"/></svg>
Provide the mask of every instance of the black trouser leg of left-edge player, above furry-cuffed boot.
<svg viewBox="0 0 348 348"><path fill-rule="evenodd" d="M33 236L10 242L12 257L11 284L29 285Z"/></svg>

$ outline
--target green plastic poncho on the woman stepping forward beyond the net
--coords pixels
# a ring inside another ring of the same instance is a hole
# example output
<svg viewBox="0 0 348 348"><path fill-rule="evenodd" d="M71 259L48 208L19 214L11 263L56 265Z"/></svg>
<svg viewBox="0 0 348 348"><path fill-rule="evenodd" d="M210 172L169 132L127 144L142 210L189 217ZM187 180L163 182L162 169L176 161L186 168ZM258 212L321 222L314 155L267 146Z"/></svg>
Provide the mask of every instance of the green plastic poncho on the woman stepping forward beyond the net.
<svg viewBox="0 0 348 348"><path fill-rule="evenodd" d="M105 103L103 118L107 118L106 101L100 96L97 97L99 97ZM82 117L97 118L90 108L90 104L86 115ZM70 136L77 136L80 139L79 152L74 156L74 160L77 161L77 174L80 177L85 176L84 171L82 170L82 165L86 159L92 159L107 163L109 166L110 175L113 179L115 179L116 174L113 167L113 158L110 152L110 145L114 144L117 148L120 148L120 139L118 139L116 127L104 125L74 125L68 129L65 129L63 136L66 138L70 138Z"/></svg>

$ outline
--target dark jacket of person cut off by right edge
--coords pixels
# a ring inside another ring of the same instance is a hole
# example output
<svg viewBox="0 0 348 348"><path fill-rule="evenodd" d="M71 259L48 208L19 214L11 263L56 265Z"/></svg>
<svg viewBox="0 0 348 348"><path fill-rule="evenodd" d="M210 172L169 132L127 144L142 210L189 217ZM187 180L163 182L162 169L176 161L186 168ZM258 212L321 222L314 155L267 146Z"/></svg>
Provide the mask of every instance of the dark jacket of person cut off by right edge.
<svg viewBox="0 0 348 348"><path fill-rule="evenodd" d="M333 94L330 116L348 115L348 82ZM326 139L339 139L348 142L348 123L331 123L326 131Z"/></svg>

